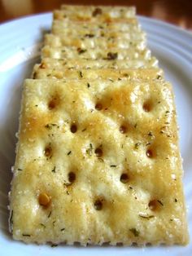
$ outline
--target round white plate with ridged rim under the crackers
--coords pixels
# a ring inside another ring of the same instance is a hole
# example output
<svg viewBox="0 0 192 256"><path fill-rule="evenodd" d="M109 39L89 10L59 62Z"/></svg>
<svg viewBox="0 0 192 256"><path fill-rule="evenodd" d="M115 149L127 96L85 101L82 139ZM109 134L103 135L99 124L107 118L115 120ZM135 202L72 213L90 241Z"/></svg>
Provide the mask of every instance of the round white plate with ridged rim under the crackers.
<svg viewBox="0 0 192 256"><path fill-rule="evenodd" d="M148 34L149 47L159 59L176 95L184 159L184 188L192 236L192 34L170 24L140 17ZM191 255L192 244L181 247L78 247L51 248L50 245L25 245L13 241L8 232L7 192L15 157L15 132L18 130L20 95L25 77L39 60L42 34L50 29L51 15L33 15L0 26L0 254L6 255Z"/></svg>

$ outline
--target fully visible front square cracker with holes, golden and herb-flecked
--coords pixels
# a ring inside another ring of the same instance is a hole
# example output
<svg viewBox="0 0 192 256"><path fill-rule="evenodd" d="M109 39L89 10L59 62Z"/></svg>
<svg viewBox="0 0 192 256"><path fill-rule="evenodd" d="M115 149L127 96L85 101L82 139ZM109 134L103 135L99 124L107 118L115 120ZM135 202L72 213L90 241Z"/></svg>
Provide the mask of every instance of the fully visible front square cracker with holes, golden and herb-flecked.
<svg viewBox="0 0 192 256"><path fill-rule="evenodd" d="M182 174L168 82L26 80L16 240L185 245Z"/></svg>

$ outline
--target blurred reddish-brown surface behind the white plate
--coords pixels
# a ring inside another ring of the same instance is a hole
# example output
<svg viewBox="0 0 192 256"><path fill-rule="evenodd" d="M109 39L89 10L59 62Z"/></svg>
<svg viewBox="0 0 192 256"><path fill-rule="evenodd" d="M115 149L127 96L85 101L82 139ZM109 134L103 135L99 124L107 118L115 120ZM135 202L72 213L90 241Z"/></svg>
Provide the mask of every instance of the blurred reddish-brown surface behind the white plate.
<svg viewBox="0 0 192 256"><path fill-rule="evenodd" d="M192 1L190 0L0 0L0 23L24 15L53 11L62 3L134 5L137 7L138 15L164 20L192 31Z"/></svg>

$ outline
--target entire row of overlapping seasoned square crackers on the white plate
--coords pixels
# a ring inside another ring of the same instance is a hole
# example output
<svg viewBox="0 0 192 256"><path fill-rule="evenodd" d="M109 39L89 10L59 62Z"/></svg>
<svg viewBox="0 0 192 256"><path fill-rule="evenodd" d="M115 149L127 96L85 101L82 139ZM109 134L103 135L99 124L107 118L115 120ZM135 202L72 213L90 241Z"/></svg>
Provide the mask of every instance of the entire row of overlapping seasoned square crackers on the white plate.
<svg viewBox="0 0 192 256"><path fill-rule="evenodd" d="M172 86L134 7L62 6L24 82L15 240L185 245Z"/></svg>

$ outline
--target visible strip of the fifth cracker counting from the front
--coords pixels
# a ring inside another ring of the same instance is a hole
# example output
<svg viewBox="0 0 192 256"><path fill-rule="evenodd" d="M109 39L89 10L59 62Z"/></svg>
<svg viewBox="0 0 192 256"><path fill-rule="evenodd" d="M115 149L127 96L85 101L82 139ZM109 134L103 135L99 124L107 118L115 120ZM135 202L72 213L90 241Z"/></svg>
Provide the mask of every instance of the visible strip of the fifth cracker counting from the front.
<svg viewBox="0 0 192 256"><path fill-rule="evenodd" d="M129 48L130 45L139 44L140 47L146 47L146 34L145 33L111 33L111 35L105 35L103 37L95 37L94 33L85 33L84 36L79 36L78 31L71 30L71 36L68 34L54 35L46 34L44 45L51 47L61 47L61 46L75 46L81 48ZM77 33L77 36L76 36Z"/></svg>

